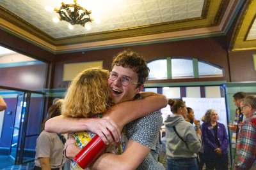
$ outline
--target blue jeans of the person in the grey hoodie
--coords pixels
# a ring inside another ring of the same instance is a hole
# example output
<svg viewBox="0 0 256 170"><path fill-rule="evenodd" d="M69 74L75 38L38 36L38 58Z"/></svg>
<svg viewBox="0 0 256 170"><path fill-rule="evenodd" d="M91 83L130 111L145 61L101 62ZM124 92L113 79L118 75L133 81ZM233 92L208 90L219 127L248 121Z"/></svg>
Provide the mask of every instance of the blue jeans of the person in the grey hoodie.
<svg viewBox="0 0 256 170"><path fill-rule="evenodd" d="M167 170L198 170L196 158L167 157Z"/></svg>

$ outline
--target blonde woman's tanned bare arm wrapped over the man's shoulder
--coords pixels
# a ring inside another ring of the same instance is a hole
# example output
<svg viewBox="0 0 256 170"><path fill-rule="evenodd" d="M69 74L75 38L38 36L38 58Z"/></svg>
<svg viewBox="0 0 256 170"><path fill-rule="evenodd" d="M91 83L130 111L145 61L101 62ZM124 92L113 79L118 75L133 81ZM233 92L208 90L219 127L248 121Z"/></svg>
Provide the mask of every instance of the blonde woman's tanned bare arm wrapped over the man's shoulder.
<svg viewBox="0 0 256 170"><path fill-rule="evenodd" d="M141 92L143 99L127 101L111 107L104 117L111 117L122 131L125 124L140 117L145 117L168 104L166 96L154 92Z"/></svg>

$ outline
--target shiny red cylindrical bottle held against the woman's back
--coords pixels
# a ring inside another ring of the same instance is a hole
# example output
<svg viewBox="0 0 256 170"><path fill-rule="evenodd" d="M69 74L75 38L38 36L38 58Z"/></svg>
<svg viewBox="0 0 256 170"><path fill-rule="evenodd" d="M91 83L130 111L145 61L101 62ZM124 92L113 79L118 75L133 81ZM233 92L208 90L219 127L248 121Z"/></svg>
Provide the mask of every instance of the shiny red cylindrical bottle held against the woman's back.
<svg viewBox="0 0 256 170"><path fill-rule="evenodd" d="M76 163L83 169L89 166L106 148L105 143L96 134L92 140L74 157Z"/></svg>

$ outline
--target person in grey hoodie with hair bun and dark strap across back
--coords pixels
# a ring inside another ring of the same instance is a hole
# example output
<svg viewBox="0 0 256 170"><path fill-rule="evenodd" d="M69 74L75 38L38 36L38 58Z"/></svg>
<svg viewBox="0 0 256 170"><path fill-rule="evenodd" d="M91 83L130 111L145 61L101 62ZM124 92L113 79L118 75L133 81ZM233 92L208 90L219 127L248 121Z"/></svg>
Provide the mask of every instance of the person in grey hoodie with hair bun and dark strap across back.
<svg viewBox="0 0 256 170"><path fill-rule="evenodd" d="M196 170L201 147L201 131L185 120L188 110L182 100L169 99L173 115L164 121L168 170Z"/></svg>

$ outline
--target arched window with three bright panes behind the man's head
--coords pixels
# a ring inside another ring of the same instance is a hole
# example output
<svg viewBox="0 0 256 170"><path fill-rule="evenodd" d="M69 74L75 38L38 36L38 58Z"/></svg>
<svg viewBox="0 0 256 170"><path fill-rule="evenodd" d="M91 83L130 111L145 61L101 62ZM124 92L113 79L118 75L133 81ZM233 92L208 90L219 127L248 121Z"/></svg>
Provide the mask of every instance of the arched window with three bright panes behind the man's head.
<svg viewBox="0 0 256 170"><path fill-rule="evenodd" d="M172 59L167 57L148 62L148 67L150 69L148 80L224 76L223 68L193 58Z"/></svg>

